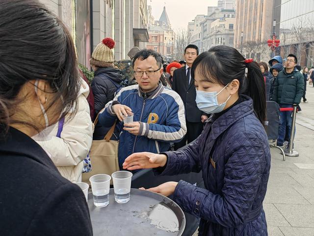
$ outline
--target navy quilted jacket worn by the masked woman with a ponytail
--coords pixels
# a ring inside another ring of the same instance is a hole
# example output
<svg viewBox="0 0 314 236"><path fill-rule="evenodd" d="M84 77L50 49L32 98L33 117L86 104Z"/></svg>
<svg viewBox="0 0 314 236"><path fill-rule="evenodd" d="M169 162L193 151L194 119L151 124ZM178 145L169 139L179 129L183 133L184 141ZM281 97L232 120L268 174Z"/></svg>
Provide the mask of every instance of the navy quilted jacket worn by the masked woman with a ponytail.
<svg viewBox="0 0 314 236"><path fill-rule="evenodd" d="M270 169L265 130L244 101L215 120L211 116L198 139L168 156L162 173L178 175L202 170L206 189L183 180L174 201L201 218L199 236L267 236L262 202Z"/></svg>

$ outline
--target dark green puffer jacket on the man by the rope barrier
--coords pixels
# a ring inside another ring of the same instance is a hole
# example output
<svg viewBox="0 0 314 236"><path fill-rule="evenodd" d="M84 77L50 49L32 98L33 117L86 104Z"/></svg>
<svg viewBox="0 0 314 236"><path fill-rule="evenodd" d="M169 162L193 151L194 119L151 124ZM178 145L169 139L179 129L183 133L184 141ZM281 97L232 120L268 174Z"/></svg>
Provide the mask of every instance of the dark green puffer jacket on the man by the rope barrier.
<svg viewBox="0 0 314 236"><path fill-rule="evenodd" d="M286 68L275 80L273 101L279 104L299 104L304 91L304 78L298 70L287 74Z"/></svg>

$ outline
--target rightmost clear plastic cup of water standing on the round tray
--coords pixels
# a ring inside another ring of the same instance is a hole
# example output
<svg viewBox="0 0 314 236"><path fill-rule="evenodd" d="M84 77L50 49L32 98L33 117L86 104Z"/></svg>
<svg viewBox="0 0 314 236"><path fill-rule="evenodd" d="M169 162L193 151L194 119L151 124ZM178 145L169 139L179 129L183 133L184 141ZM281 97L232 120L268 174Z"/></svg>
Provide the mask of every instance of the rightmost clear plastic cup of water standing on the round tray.
<svg viewBox="0 0 314 236"><path fill-rule="evenodd" d="M130 201L131 179L133 174L129 171L117 171L112 175L114 200L117 203L127 203Z"/></svg>

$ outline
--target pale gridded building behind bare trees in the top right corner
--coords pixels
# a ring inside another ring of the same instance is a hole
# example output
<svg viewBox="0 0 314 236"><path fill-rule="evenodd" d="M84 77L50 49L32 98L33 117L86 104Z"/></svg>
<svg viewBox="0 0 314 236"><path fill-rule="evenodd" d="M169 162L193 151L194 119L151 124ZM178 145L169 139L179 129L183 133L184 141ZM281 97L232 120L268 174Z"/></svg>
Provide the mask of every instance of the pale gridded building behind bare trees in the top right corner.
<svg viewBox="0 0 314 236"><path fill-rule="evenodd" d="M276 11L280 12L280 50L285 59L292 53L301 66L314 65L314 1L277 0Z"/></svg>

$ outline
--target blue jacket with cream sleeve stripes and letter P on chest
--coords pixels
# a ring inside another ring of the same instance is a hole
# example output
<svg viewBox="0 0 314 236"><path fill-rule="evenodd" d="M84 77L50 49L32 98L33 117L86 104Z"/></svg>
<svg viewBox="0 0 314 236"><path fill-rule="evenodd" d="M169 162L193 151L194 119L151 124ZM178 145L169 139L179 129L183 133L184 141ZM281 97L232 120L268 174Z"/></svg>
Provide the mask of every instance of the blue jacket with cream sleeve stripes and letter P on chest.
<svg viewBox="0 0 314 236"><path fill-rule="evenodd" d="M112 102L106 104L100 112L98 122L111 127L117 120L116 129L120 131L118 159L120 168L124 160L134 152L150 151L160 153L168 151L170 143L179 142L186 133L184 106L178 93L159 83L157 89L144 97L138 85L121 89L114 97L132 109L133 121L140 122L140 134L133 135L123 130L123 123L118 122L113 113Z"/></svg>

